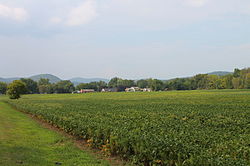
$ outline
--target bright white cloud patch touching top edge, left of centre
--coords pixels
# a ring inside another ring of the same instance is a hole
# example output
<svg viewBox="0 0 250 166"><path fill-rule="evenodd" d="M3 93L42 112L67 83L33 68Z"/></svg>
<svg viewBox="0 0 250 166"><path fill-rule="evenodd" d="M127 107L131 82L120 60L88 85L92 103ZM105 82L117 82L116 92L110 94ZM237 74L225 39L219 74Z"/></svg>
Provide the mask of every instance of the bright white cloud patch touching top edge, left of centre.
<svg viewBox="0 0 250 166"><path fill-rule="evenodd" d="M87 0L80 6L71 9L66 25L68 26L78 26L86 24L93 20L97 16L96 3L93 0Z"/></svg>

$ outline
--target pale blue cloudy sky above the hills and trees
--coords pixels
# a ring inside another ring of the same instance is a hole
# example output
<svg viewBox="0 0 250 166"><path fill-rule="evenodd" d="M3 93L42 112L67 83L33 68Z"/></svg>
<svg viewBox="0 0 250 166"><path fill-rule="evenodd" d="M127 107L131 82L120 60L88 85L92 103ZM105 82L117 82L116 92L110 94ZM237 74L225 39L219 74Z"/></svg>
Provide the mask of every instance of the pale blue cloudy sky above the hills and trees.
<svg viewBox="0 0 250 166"><path fill-rule="evenodd" d="M0 0L0 77L170 79L245 67L249 0Z"/></svg>

